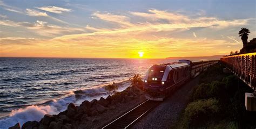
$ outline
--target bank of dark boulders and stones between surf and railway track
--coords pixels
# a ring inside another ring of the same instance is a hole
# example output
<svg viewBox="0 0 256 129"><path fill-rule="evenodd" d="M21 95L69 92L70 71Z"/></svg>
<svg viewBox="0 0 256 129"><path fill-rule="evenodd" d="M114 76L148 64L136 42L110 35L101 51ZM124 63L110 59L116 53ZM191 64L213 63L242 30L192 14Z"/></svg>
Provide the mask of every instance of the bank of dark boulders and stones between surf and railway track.
<svg viewBox="0 0 256 129"><path fill-rule="evenodd" d="M39 122L27 121L22 127L17 123L9 129L100 128L143 101L145 101L145 97L140 88L128 87L124 91L106 98L93 99L91 102L84 101L80 106L70 103L67 110L57 115L45 114Z"/></svg>

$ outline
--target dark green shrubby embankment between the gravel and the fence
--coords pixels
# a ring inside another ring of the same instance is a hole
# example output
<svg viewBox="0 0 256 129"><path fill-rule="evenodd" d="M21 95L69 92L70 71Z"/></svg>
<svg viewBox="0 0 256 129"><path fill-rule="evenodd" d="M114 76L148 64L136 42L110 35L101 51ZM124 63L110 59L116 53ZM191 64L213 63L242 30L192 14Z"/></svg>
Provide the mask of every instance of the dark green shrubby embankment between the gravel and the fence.
<svg viewBox="0 0 256 129"><path fill-rule="evenodd" d="M200 75L190 103L173 128L255 128L255 112L245 110L245 92L253 92L217 64Z"/></svg>

